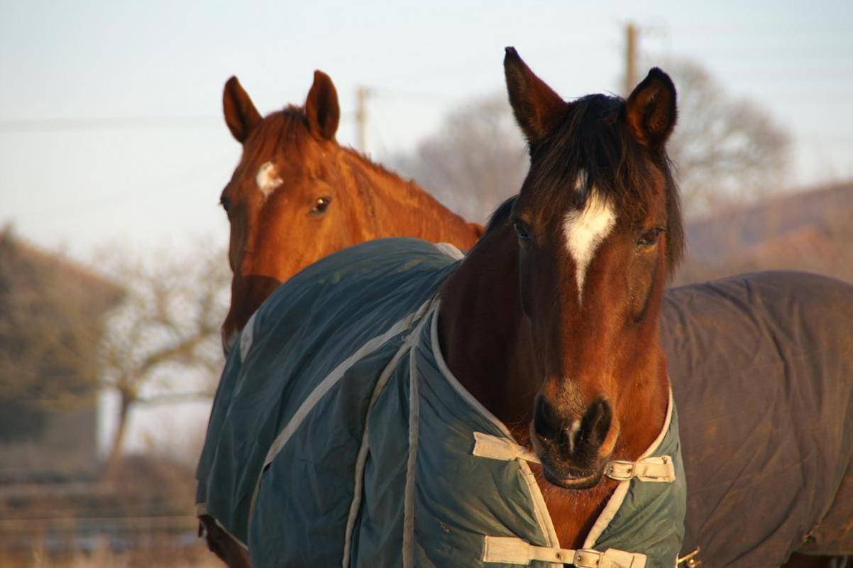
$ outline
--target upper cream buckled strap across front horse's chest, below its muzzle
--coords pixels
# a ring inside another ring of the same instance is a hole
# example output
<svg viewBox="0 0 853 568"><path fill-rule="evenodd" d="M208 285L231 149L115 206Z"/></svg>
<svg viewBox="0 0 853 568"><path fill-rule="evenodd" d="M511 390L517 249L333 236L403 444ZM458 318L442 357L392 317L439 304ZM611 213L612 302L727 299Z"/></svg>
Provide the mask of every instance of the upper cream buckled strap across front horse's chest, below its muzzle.
<svg viewBox="0 0 853 568"><path fill-rule="evenodd" d="M539 458L530 449L509 438L500 438L484 432L474 432L473 455L492 460L524 460L539 463ZM669 455L645 457L637 461L613 460L607 463L604 474L616 481L639 481L671 483L676 480L676 468Z"/></svg>

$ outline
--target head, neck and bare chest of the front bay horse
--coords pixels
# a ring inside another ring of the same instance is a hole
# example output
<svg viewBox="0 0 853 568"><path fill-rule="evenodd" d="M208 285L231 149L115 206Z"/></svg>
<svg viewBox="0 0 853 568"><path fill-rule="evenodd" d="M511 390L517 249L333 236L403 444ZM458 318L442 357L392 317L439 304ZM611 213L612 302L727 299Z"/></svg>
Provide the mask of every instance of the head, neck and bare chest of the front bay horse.
<svg viewBox="0 0 853 568"><path fill-rule="evenodd" d="M676 91L653 69L627 101L569 103L514 49L504 67L531 169L441 285L438 340L461 386L537 456L557 548L583 548L618 485L606 465L640 459L669 423L659 313L683 246L664 149ZM266 172L258 169L258 187ZM232 232L234 264L235 241L252 250ZM671 519L676 538L682 520ZM246 561L217 552L232 565Z"/></svg>

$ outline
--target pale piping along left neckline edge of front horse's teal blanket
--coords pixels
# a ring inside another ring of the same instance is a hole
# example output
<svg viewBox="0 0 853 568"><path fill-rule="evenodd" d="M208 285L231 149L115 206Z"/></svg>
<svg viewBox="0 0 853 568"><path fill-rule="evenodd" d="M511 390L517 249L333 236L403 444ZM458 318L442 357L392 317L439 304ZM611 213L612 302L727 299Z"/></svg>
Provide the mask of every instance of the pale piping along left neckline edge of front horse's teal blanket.
<svg viewBox="0 0 853 568"><path fill-rule="evenodd" d="M432 353L435 356L435 362L436 365L438 365L438 370L441 371L444 379L450 383L450 386L453 387L456 393L459 394L464 401L466 401L474 410L482 414L486 420L489 420L494 424L498 430L507 436L507 438L515 442L515 438L513 438L513 435L509 432L507 426L504 425L501 420L498 420L495 414L491 414L490 411L479 402L479 400L474 398L472 394L461 385L453 373L450 372L447 362L444 361L444 354L441 352L441 343L438 341L438 316L440 313L441 310L439 310L437 304L435 315L432 317L430 341L432 342ZM522 478L524 478L525 483L527 484L527 489L530 490L531 500L533 501L533 513L536 514L537 524L542 530L545 540L548 542L548 546L560 548L560 539L557 538L557 531L554 530L554 521L551 519L551 513L548 513L548 506L545 505L542 490L539 489L539 484L537 484L530 466L527 465L526 461L519 460L519 469L521 470ZM556 567L558 565L554 566Z"/></svg>

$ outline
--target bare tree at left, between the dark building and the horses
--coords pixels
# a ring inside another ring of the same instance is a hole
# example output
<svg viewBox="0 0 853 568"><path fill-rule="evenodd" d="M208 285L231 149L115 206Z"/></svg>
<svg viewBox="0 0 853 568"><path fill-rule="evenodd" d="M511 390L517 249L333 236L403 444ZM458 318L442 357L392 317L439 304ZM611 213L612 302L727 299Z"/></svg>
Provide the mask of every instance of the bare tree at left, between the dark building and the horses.
<svg viewBox="0 0 853 568"><path fill-rule="evenodd" d="M155 256L156 263L114 252L107 263L128 291L108 317L101 345L103 385L120 399L107 472L119 461L133 405L151 397L210 394L222 369L219 325L230 279L224 252L200 246Z"/></svg>

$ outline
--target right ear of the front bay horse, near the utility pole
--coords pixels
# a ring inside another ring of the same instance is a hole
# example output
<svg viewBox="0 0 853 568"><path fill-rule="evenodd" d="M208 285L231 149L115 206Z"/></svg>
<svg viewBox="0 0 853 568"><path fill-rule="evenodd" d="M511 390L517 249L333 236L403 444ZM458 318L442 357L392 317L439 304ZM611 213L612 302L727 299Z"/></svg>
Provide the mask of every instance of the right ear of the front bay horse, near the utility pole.
<svg viewBox="0 0 853 568"><path fill-rule="evenodd" d="M625 119L637 142L660 148L676 125L676 85L653 67L625 102Z"/></svg>

